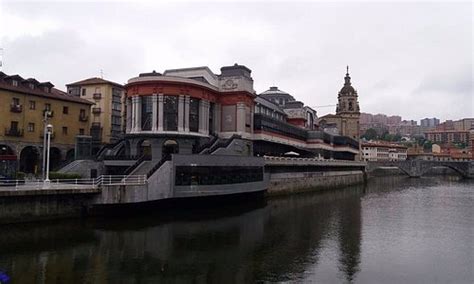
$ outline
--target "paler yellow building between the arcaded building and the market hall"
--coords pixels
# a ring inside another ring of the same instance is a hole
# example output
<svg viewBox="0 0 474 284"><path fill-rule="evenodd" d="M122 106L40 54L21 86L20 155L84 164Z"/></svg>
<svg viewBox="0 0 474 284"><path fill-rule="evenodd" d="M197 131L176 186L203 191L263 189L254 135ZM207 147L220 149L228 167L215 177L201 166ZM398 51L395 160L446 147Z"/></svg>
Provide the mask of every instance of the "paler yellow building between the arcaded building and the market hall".
<svg viewBox="0 0 474 284"><path fill-rule="evenodd" d="M91 106L90 132L95 150L100 148L100 144L117 142L124 133L123 86L102 78L89 78L66 86L69 95L94 103Z"/></svg>

